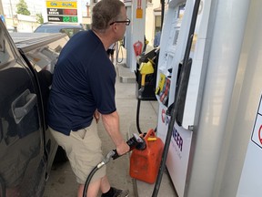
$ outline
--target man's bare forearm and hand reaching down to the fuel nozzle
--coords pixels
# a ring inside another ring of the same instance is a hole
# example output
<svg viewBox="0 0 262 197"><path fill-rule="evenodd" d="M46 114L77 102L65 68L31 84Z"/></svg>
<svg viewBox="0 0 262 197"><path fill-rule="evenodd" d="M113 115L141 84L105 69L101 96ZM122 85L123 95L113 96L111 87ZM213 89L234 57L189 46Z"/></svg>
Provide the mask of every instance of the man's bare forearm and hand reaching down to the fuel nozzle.
<svg viewBox="0 0 262 197"><path fill-rule="evenodd" d="M127 151L129 151L129 146L126 144L126 141L123 139L119 130L118 113L115 111L111 114L101 114L101 116L107 133L110 135L111 139L116 145L116 151L118 155L125 154Z"/></svg>

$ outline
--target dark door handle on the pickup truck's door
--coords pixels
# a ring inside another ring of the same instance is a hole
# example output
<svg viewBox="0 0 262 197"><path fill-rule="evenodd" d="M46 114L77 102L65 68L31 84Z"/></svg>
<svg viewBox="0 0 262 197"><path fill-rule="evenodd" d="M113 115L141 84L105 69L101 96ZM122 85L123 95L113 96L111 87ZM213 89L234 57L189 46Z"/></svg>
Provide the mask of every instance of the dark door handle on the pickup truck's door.
<svg viewBox="0 0 262 197"><path fill-rule="evenodd" d="M33 109L36 104L36 94L26 89L18 98L12 102L12 112L15 123L18 124L25 115Z"/></svg>

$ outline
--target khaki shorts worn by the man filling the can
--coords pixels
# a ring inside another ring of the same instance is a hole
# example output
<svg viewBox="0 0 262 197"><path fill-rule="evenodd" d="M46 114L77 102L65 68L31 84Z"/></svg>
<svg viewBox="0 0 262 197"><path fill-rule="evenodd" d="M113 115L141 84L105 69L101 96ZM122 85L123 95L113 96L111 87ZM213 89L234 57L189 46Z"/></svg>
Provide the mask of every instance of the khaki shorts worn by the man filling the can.
<svg viewBox="0 0 262 197"><path fill-rule="evenodd" d="M72 131L70 136L55 131L49 127L57 143L63 147L70 161L70 165L76 174L76 181L85 184L88 174L103 160L101 140L97 134L96 120L85 129ZM106 165L96 171L92 181L106 176ZM92 182L91 181L91 182Z"/></svg>

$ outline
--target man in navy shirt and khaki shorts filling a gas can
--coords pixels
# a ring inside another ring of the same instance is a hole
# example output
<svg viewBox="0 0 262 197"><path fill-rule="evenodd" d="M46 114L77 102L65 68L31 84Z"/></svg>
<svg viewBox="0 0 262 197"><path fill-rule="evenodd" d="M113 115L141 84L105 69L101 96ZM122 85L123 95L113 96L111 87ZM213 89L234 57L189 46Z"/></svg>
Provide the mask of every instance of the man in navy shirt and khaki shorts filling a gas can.
<svg viewBox="0 0 262 197"><path fill-rule="evenodd" d="M117 153L122 155L129 150L119 130L116 70L106 54L108 47L123 38L129 23L123 2L99 1L93 8L91 30L73 36L55 66L48 125L76 174L78 197L83 195L88 174L104 158L96 126L100 115ZM102 197L128 195L128 191L110 186L106 167L96 171L87 196L97 196L99 189Z"/></svg>

